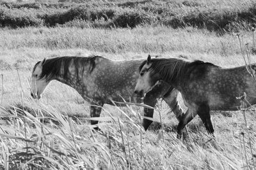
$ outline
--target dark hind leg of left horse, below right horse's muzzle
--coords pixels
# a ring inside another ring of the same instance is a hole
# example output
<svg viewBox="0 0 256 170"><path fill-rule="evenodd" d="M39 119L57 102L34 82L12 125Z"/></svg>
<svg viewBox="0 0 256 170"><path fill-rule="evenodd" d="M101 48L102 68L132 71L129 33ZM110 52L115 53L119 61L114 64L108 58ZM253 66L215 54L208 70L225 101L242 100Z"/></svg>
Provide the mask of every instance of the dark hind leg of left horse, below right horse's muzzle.
<svg viewBox="0 0 256 170"><path fill-rule="evenodd" d="M150 91L145 94L143 98L143 103L147 104L154 108L157 103L157 99L161 98L168 92L170 89L170 85L165 83L164 81L157 81L156 85L152 87ZM154 109L144 108L144 116L152 118L154 115ZM145 131L147 131L148 127L152 124L152 120L148 120L147 118L143 118L143 127Z"/></svg>

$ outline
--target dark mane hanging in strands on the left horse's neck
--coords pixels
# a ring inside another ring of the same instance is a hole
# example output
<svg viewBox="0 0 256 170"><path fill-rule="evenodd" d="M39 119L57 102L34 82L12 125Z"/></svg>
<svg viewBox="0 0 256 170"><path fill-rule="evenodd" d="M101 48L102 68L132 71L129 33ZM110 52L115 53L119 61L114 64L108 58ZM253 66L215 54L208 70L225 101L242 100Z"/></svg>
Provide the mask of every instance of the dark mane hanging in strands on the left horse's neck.
<svg viewBox="0 0 256 170"><path fill-rule="evenodd" d="M44 65L42 66L42 74L40 78L46 78L46 81L52 80L54 77L60 76L60 72L63 71L63 78L68 78L69 69L68 67L73 62L75 66L75 71L78 76L79 69L83 67L89 66L89 71L92 73L95 68L95 59L100 56L91 55L88 57L54 57L52 59L45 60ZM35 71L36 66L38 66L40 62L37 62L33 68L33 72ZM62 70L61 70L62 69Z"/></svg>

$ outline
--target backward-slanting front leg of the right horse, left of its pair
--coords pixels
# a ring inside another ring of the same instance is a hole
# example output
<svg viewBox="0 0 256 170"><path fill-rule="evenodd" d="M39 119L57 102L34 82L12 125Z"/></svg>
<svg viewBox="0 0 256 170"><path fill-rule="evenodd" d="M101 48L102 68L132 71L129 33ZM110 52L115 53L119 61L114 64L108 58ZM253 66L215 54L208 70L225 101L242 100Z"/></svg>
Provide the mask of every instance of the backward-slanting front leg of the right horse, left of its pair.
<svg viewBox="0 0 256 170"><path fill-rule="evenodd" d="M184 127L194 118L193 116L193 112L191 110L186 111L185 115L182 115L179 119L180 122L177 125L177 138L181 138L182 135L182 130L184 129Z"/></svg>

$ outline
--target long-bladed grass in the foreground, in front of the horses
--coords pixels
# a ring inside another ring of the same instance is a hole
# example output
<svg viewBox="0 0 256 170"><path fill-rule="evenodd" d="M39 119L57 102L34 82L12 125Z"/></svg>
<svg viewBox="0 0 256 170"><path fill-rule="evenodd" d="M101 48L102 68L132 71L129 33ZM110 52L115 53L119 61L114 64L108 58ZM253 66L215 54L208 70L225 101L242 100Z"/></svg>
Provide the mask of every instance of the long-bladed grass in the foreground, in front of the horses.
<svg viewBox="0 0 256 170"><path fill-rule="evenodd" d="M164 141L159 140L154 132L143 131L138 119L140 113L131 106L127 108L127 111L118 109L122 117L105 110L110 117L97 119L101 121L99 124L101 132L94 132L92 125L71 120L54 108L50 111L40 106L31 108L35 110L34 115L17 106L11 106L8 110L1 108L0 139L1 150L4 153L1 155L1 165L6 169L8 167L9 169L240 169L243 167L239 143L226 143L223 139L218 143L214 141L209 143L204 127L196 132L189 131L191 134L189 143L182 143L176 139L173 132L164 132ZM26 118L26 124L23 118ZM238 140L234 137L230 139ZM246 152L250 153L248 150Z"/></svg>

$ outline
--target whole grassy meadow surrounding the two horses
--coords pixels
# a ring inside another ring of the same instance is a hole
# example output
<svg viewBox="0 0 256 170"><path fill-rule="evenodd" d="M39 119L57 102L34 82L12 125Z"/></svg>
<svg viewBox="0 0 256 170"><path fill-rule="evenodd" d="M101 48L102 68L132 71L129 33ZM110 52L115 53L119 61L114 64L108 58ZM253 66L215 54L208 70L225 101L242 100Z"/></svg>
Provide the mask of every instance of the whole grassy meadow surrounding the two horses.
<svg viewBox="0 0 256 170"><path fill-rule="evenodd" d="M145 2L132 7L134 1L131 1L130 12L139 7L164 6L164 1ZM221 6L216 13L253 8L252 1L186 2L194 5L184 7L183 4L175 12L191 10L195 6L198 11ZM113 5L105 4L104 7L120 8L129 2L109 3ZM173 4L179 3L173 1ZM8 8L8 5L13 6ZM25 8L25 4L19 4L23 7L8 5L1 9L27 9L26 15L40 12ZM59 4L63 6L61 8L40 5L39 10L54 8L54 12L59 11L61 15L81 4ZM42 15L35 16L42 19ZM173 27L161 20L141 22L134 27L127 27L127 24L125 27L109 26L115 18L96 22L80 18L56 25L45 25L44 21L30 26L2 24L0 169L255 169L256 115L253 108L212 111L215 139L207 134L202 121L196 117L188 125L188 138L180 140L175 132L178 122L162 101L157 104L155 122L147 132L141 126L143 108L130 105L122 108L104 105L99 118L102 132L94 132L88 123L88 103L67 85L52 81L40 101L30 97L28 78L31 69L44 57L94 54L111 60L131 60L146 58L150 53L234 67L244 65L236 36L239 31L243 44L249 43L252 62L256 62L250 20L232 20L232 29L212 30L207 23L201 24L202 27L193 24ZM186 110L181 97L179 101Z"/></svg>

